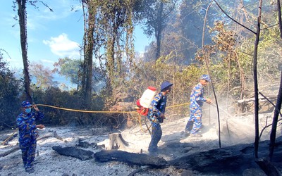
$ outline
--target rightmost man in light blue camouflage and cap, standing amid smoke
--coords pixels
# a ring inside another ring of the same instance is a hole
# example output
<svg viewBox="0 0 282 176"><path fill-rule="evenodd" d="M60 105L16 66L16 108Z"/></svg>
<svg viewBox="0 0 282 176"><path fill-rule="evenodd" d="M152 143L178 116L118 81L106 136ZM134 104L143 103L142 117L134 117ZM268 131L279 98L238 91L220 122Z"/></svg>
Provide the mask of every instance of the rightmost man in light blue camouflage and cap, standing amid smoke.
<svg viewBox="0 0 282 176"><path fill-rule="evenodd" d="M186 135L191 137L202 137L198 134L202 126L202 106L204 102L212 103L211 99L204 98L204 86L210 81L209 75L202 75L200 82L192 89L190 95L190 119L185 127Z"/></svg>

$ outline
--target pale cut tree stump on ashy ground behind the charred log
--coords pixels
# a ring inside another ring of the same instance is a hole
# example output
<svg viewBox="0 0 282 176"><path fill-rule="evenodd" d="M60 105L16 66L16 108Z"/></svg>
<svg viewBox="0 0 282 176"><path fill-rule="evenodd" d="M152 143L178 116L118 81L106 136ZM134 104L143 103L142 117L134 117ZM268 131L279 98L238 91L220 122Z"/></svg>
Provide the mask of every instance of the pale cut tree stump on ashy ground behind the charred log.
<svg viewBox="0 0 282 176"><path fill-rule="evenodd" d="M128 142L126 142L121 133L112 133L109 135L109 150L111 149L125 149L126 146L129 146Z"/></svg>

